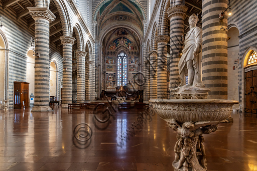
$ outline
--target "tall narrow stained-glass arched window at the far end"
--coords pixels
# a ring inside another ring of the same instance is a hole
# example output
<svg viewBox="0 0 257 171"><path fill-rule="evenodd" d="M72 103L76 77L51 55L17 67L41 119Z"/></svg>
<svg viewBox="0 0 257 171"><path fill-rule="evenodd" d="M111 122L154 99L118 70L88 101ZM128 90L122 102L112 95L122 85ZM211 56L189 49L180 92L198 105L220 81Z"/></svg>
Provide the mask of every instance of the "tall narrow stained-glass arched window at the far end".
<svg viewBox="0 0 257 171"><path fill-rule="evenodd" d="M126 54L118 54L117 63L117 86L126 85Z"/></svg>

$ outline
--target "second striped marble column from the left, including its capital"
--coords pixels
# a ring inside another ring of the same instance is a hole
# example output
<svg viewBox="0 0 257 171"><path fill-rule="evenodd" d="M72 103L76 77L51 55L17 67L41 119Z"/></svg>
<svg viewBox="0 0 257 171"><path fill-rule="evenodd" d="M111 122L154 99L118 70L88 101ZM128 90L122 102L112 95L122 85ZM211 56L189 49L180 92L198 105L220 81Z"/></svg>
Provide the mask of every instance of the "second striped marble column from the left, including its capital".
<svg viewBox="0 0 257 171"><path fill-rule="evenodd" d="M62 107L68 107L72 103L72 45L75 38L62 36L60 40L63 45L63 83L62 83Z"/></svg>

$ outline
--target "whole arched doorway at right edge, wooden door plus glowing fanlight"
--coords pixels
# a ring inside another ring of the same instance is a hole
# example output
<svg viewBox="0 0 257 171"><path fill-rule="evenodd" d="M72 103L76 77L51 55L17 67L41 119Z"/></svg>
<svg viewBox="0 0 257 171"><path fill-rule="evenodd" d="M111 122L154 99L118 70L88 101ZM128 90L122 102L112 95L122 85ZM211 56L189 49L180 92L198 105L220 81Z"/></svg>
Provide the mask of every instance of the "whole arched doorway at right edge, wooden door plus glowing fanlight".
<svg viewBox="0 0 257 171"><path fill-rule="evenodd" d="M250 48L243 61L244 112L257 114L257 49Z"/></svg>

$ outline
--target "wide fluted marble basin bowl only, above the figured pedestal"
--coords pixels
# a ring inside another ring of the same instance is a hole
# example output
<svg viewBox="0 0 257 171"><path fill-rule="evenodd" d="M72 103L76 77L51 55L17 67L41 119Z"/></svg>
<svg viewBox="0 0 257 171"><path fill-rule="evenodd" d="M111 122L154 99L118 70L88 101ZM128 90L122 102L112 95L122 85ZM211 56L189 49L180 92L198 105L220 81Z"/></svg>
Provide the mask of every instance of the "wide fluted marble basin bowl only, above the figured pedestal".
<svg viewBox="0 0 257 171"><path fill-rule="evenodd" d="M149 100L150 107L165 121L175 119L179 123L222 121L227 119L235 100L212 99L158 99Z"/></svg>

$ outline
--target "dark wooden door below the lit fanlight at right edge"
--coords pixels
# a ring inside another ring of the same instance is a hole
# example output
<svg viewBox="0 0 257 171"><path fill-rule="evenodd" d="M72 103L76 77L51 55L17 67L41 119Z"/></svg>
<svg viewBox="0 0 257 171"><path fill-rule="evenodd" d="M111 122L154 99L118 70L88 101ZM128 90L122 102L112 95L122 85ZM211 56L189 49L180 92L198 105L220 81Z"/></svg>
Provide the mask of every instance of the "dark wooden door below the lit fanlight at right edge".
<svg viewBox="0 0 257 171"><path fill-rule="evenodd" d="M257 70L246 72L245 82L246 106L244 108L244 112L257 114Z"/></svg>

